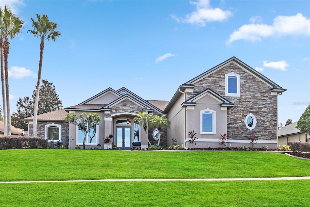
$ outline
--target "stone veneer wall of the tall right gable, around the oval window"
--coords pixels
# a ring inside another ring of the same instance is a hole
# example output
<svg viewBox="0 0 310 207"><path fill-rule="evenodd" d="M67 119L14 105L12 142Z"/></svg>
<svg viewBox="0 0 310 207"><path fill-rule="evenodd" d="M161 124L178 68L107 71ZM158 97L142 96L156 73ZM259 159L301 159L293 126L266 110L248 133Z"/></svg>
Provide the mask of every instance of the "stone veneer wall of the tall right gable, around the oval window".
<svg viewBox="0 0 310 207"><path fill-rule="evenodd" d="M240 97L225 96L225 74L231 72L240 75ZM194 85L193 93L186 94L187 99L210 88L235 104L227 111L227 133L231 139L248 140L254 134L259 140L277 140L277 95L271 95L271 88L255 76L231 63ZM252 131L245 124L250 112L257 120Z"/></svg>

